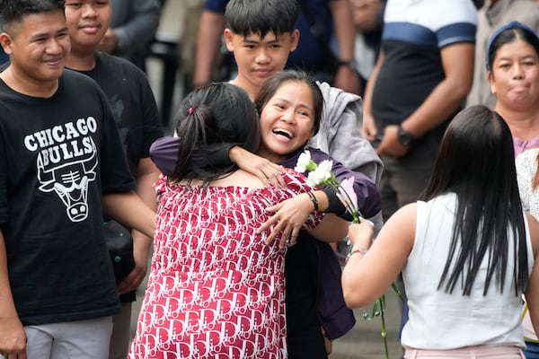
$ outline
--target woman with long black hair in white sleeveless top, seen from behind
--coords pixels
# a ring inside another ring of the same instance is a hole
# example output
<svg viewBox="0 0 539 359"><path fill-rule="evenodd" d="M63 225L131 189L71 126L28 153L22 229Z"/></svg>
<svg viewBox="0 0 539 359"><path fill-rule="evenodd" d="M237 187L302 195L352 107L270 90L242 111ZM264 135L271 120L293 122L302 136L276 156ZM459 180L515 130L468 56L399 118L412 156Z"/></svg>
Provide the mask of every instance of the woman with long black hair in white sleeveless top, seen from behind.
<svg viewBox="0 0 539 359"><path fill-rule="evenodd" d="M397 211L369 250L367 228L349 230L345 301L376 301L402 271L405 358L524 358L522 293L539 328L539 223L520 205L511 133L496 112L460 112L422 200Z"/></svg>

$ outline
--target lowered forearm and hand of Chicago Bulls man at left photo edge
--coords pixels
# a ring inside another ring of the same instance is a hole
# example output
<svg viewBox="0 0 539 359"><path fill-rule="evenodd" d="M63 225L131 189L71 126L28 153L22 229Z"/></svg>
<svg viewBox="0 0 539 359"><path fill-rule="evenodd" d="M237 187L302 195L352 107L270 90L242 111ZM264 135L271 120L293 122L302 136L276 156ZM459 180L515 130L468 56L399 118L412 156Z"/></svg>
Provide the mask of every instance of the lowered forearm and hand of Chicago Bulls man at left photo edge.
<svg viewBox="0 0 539 359"><path fill-rule="evenodd" d="M4 234L0 230L0 353L26 359L26 334L15 309L7 274Z"/></svg>

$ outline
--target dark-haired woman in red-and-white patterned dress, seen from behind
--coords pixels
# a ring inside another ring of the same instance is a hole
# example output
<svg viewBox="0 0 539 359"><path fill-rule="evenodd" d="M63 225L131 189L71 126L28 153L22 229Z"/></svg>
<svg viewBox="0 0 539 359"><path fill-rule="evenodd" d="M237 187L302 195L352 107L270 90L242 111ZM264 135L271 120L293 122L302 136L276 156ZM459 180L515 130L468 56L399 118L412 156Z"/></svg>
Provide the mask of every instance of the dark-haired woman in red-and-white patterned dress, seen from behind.
<svg viewBox="0 0 539 359"><path fill-rule="evenodd" d="M286 171L287 188L266 186L210 159L223 148L255 151L256 109L246 92L212 83L181 103L175 170L156 183L159 206L151 272L130 358L285 358L285 241L257 229L266 208L310 191ZM336 241L347 223L315 213L314 237Z"/></svg>

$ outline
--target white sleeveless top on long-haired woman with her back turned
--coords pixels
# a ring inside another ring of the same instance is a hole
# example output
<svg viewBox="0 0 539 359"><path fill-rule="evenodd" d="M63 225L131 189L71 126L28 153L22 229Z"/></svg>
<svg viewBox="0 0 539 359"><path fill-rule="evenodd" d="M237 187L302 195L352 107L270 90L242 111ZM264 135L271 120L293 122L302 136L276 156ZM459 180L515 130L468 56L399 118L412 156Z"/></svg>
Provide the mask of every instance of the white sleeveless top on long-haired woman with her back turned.
<svg viewBox="0 0 539 359"><path fill-rule="evenodd" d="M410 320L402 329L402 346L444 350L463 346L513 345L524 348L520 325L522 299L513 285L513 246L509 245L508 273L504 291L495 283L482 295L488 255L476 276L470 296L464 296L457 284L453 293L437 290L446 266L447 252L455 221L455 193L429 202L418 201L416 236L402 270L408 297ZM533 251L526 223L528 267L534 265ZM519 293L520 294L520 293Z"/></svg>

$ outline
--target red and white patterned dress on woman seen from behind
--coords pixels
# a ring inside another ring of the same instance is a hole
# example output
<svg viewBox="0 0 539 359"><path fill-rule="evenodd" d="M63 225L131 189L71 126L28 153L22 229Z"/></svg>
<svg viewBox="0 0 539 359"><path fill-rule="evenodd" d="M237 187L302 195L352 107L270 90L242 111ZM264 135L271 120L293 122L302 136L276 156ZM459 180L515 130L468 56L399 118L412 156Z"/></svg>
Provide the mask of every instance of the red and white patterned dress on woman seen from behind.
<svg viewBox="0 0 539 359"><path fill-rule="evenodd" d="M154 254L129 358L286 358L284 258L256 233L266 208L310 190L156 183ZM312 228L320 215L309 218Z"/></svg>

